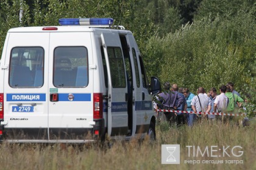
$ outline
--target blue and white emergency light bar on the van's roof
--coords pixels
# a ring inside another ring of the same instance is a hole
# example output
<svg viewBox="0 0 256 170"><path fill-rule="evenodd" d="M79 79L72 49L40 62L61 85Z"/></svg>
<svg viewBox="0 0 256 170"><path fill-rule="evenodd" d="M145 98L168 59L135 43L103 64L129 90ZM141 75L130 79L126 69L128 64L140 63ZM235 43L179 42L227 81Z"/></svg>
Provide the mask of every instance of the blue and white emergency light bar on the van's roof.
<svg viewBox="0 0 256 170"><path fill-rule="evenodd" d="M113 18L61 18L60 25L112 25Z"/></svg>

